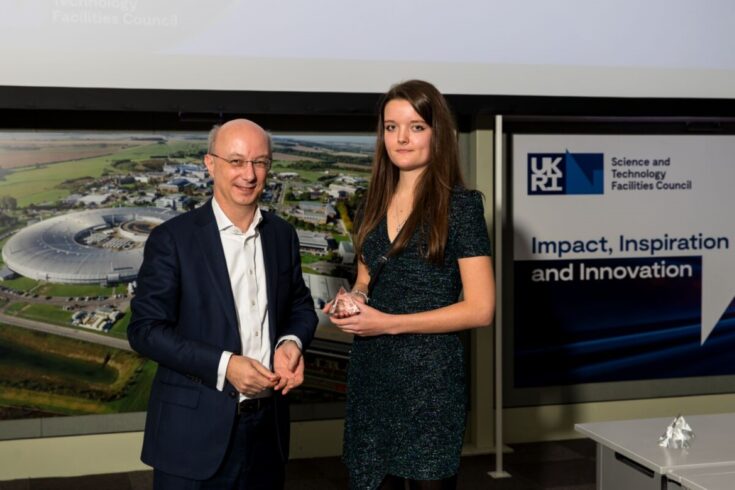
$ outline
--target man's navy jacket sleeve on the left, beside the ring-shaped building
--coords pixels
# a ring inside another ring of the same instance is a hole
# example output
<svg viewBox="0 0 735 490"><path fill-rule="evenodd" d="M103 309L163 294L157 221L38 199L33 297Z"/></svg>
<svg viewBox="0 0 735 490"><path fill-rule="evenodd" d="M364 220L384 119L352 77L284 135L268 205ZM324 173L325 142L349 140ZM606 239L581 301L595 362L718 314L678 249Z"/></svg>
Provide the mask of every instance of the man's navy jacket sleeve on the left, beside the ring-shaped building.
<svg viewBox="0 0 735 490"><path fill-rule="evenodd" d="M133 349L162 366L216 386L222 348L185 335L179 318L182 263L169 227L157 226L148 237L132 301L128 340Z"/></svg>

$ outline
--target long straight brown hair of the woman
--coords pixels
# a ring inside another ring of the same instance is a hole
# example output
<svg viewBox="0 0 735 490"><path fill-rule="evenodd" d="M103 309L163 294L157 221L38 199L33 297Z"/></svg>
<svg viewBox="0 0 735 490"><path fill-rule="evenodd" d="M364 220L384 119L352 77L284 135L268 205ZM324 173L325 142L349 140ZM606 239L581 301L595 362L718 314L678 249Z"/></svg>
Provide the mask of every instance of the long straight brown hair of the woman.
<svg viewBox="0 0 735 490"><path fill-rule="evenodd" d="M418 229L424 258L441 263L449 233L452 189L458 185L464 186L464 183L459 168L456 125L449 105L436 87L422 80L394 85L381 99L370 187L356 223L356 251L358 256L362 255L365 238L388 212L388 205L398 184L399 170L388 158L384 138L385 106L391 100L410 103L431 127L431 155L426 170L416 183L413 211L393 241L388 255L401 252Z"/></svg>

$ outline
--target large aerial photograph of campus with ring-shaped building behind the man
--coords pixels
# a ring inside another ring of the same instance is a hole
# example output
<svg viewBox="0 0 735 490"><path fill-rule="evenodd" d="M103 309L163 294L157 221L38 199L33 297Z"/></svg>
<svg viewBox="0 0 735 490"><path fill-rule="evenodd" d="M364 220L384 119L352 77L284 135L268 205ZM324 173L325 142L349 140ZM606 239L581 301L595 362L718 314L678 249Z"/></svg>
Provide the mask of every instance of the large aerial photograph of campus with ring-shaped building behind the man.
<svg viewBox="0 0 735 490"><path fill-rule="evenodd" d="M0 132L0 420L145 411L126 329L150 231L212 195L206 132ZM273 136L261 206L297 229L320 309L354 274L374 138ZM344 399L351 338L319 312L293 402Z"/></svg>

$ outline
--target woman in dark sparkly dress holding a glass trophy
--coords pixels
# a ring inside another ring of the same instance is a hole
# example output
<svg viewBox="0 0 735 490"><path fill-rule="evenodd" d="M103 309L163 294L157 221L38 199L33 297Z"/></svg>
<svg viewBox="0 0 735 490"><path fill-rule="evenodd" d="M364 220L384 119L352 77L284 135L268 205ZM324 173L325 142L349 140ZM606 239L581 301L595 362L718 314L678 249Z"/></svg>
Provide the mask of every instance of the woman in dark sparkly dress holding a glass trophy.
<svg viewBox="0 0 735 490"><path fill-rule="evenodd" d="M433 85L404 82L383 98L364 204L350 295L360 311L332 316L355 335L350 485L453 489L467 399L457 332L491 322L495 286L482 197L463 186L455 125Z"/></svg>

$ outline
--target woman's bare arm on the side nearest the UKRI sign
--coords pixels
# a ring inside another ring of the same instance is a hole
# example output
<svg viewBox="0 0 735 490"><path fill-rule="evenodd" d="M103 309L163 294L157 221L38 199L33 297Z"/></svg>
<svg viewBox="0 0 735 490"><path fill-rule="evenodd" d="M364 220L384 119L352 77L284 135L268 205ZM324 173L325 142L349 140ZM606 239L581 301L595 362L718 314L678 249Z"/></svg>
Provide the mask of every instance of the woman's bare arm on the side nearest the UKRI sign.
<svg viewBox="0 0 735 490"><path fill-rule="evenodd" d="M332 322L347 333L366 337L402 333L446 333L488 326L495 313L492 260L488 256L466 257L459 259L458 263L464 295L457 303L403 315L383 313L368 305L360 305L359 314L347 318L332 318ZM366 271L365 268L365 273ZM367 288L367 283L365 287Z"/></svg>

